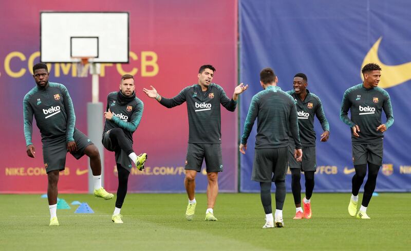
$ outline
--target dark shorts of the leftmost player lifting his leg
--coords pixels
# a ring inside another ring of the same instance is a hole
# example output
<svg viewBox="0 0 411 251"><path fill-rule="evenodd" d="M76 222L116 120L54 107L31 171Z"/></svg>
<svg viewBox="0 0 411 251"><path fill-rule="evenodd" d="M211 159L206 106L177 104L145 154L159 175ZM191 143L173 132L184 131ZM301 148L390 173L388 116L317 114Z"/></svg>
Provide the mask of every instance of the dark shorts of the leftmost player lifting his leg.
<svg viewBox="0 0 411 251"><path fill-rule="evenodd" d="M74 142L77 144L77 151L72 153L76 159L80 159L84 155L84 150L88 145L92 144L91 140L81 131L74 129ZM62 141L50 147L43 146L43 160L46 172L60 170L63 171L66 165L67 142Z"/></svg>

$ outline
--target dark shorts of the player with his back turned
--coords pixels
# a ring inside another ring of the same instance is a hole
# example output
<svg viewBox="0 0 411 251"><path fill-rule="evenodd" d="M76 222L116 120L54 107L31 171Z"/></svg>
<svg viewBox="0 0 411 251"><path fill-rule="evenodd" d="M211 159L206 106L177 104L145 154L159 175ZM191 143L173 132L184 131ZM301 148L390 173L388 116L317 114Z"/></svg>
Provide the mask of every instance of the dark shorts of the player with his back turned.
<svg viewBox="0 0 411 251"><path fill-rule="evenodd" d="M287 147L255 149L251 180L273 182L286 179Z"/></svg>

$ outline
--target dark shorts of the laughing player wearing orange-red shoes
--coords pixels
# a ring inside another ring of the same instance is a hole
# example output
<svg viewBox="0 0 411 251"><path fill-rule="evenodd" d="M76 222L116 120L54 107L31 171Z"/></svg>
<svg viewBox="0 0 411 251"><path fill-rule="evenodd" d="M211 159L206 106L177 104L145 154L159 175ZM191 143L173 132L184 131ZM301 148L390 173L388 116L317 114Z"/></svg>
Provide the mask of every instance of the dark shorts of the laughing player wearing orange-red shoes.
<svg viewBox="0 0 411 251"><path fill-rule="evenodd" d="M302 171L316 171L315 147L302 147L303 160L297 162L294 158L294 144L288 145L288 164L290 169L301 169Z"/></svg>

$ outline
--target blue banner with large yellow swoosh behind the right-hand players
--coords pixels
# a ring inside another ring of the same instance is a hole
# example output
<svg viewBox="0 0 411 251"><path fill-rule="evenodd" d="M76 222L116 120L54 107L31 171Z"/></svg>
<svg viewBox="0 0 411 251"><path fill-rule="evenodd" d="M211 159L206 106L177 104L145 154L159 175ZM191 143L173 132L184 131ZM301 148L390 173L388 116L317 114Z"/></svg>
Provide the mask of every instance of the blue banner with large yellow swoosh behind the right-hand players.
<svg viewBox="0 0 411 251"><path fill-rule="evenodd" d="M316 120L316 192L349 192L353 164L350 128L340 120L344 91L362 82L368 62L382 67L380 87L391 97L395 122L385 133L384 158L377 191L411 191L408 126L411 96L411 3L396 1L240 0L240 81L250 85L242 95L240 134L252 96L261 89L259 72L274 69L278 85L292 89L296 73L308 77L310 92L322 100L330 139L320 142ZM385 117L383 115L383 122ZM240 157L240 191L259 191L250 180L255 128L246 155ZM290 191L290 175L287 188ZM304 187L304 177L302 177ZM304 190L304 189L303 189Z"/></svg>

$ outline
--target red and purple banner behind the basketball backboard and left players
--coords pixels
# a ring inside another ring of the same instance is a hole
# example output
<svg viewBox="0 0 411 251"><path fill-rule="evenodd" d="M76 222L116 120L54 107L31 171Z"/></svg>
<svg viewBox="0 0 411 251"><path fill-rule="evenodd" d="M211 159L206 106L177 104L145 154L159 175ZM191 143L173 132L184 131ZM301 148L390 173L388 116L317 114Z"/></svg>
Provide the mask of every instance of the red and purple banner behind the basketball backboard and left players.
<svg viewBox="0 0 411 251"><path fill-rule="evenodd" d="M120 77L133 74L136 95L144 113L134 134L134 150L149 156L144 172L133 170L130 192L184 192L184 162L188 118L183 104L162 107L145 96L143 87L154 86L165 97L177 95L197 83L201 65L216 68L214 81L231 96L237 83L237 1L3 1L0 20L0 193L43 193L47 177L39 130L33 123L36 157L26 155L23 134L23 97L35 86L31 68L40 61L40 11L128 11L129 64L102 64L100 101L119 89ZM90 31L92 33L92 31ZM51 64L50 81L63 83L73 100L76 127L87 134L87 102L91 101L91 76L80 78L71 64ZM103 114L101 116L103 119ZM222 108L221 191L237 191L237 115ZM207 132L204 132L207 133ZM67 155L59 192L87 192L87 158ZM105 151L105 187L117 190L114 153ZM197 176L197 191L206 191L207 177Z"/></svg>

